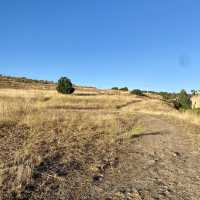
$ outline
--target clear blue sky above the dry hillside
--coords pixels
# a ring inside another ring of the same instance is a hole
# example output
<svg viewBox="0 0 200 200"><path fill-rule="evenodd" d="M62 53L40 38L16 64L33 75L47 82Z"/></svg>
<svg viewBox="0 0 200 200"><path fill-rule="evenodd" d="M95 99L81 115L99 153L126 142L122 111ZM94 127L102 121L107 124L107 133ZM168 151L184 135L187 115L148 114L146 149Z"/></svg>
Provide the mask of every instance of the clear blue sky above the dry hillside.
<svg viewBox="0 0 200 200"><path fill-rule="evenodd" d="M0 73L200 88L199 0L0 0Z"/></svg>

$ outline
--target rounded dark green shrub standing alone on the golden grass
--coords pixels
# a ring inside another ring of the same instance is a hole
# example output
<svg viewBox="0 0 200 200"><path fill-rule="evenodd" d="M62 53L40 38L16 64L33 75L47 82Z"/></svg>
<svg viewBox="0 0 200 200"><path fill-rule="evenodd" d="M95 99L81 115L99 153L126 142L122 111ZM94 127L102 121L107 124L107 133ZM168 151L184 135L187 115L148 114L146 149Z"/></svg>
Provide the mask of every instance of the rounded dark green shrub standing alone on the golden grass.
<svg viewBox="0 0 200 200"><path fill-rule="evenodd" d="M61 77L58 80L57 91L62 94L72 94L75 89L73 88L72 82L67 77Z"/></svg>

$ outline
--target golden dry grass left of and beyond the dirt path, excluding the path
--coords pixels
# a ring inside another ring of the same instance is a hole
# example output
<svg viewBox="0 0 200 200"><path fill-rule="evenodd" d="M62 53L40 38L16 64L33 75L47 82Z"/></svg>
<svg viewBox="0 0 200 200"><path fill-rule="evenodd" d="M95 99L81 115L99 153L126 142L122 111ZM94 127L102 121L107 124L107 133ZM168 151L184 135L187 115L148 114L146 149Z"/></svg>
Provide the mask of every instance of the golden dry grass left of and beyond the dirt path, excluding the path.
<svg viewBox="0 0 200 200"><path fill-rule="evenodd" d="M73 95L1 89L0 195L56 199L50 182L59 185L60 195L87 196L92 184L88 177L113 167L120 144L144 131L137 113L199 123L196 114L175 111L159 97L83 88Z"/></svg>

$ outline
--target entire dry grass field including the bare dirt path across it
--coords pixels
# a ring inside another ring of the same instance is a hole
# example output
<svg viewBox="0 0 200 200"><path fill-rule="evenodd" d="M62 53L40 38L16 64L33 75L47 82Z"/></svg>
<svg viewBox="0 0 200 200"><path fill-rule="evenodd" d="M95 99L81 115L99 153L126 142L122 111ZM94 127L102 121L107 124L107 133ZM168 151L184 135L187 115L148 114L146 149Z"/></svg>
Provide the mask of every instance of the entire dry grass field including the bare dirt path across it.
<svg viewBox="0 0 200 200"><path fill-rule="evenodd" d="M158 96L0 90L0 199L200 199L199 117Z"/></svg>

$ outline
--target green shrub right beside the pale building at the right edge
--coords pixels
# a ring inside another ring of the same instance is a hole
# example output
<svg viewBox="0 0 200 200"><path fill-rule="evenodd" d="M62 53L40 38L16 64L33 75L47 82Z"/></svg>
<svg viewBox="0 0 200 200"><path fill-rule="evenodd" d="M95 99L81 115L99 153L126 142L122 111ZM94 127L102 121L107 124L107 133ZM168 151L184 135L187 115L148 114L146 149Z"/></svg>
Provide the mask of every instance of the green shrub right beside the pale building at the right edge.
<svg viewBox="0 0 200 200"><path fill-rule="evenodd" d="M174 106L177 109L190 109L192 106L190 95L188 95L185 90L181 90L181 92L178 94L176 101L174 101Z"/></svg>

